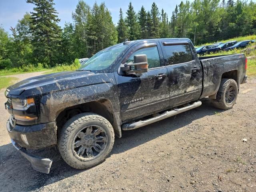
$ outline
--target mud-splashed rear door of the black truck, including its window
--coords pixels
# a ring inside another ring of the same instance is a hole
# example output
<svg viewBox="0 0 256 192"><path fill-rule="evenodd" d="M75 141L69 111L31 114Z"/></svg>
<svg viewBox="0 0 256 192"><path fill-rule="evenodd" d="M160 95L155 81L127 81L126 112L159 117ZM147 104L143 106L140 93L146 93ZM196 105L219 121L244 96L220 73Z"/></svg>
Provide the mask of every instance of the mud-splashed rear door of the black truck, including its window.
<svg viewBox="0 0 256 192"><path fill-rule="evenodd" d="M196 100L202 92L202 68L192 44L187 41L161 40L168 70L170 106Z"/></svg>

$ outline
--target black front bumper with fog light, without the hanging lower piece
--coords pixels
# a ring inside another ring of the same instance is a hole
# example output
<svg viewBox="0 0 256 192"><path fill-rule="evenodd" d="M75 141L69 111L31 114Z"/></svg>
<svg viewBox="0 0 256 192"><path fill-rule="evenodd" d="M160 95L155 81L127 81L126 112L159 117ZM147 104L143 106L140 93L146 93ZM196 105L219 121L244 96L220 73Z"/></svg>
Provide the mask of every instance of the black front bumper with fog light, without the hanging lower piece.
<svg viewBox="0 0 256 192"><path fill-rule="evenodd" d="M30 126L17 125L10 116L6 122L8 134L21 147L40 149L56 144L56 126L54 122Z"/></svg>

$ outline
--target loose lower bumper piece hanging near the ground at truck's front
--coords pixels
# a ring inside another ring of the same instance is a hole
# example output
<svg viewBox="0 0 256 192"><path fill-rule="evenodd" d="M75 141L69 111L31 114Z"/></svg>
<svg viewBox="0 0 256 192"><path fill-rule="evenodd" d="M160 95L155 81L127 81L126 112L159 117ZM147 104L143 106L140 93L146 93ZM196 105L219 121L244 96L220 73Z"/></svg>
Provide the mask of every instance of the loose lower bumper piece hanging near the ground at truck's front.
<svg viewBox="0 0 256 192"><path fill-rule="evenodd" d="M13 146L31 163L34 170L47 174L50 172L52 160L29 154L26 149L21 147L17 142L12 139L11 141Z"/></svg>

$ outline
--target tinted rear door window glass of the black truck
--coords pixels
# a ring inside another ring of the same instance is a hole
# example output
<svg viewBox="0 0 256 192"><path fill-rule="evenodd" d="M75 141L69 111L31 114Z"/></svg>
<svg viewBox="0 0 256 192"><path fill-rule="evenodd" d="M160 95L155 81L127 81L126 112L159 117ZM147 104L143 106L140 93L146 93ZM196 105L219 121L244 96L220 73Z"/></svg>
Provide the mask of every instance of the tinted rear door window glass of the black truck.
<svg viewBox="0 0 256 192"><path fill-rule="evenodd" d="M164 46L168 65L186 63L193 60L192 52L188 44Z"/></svg>

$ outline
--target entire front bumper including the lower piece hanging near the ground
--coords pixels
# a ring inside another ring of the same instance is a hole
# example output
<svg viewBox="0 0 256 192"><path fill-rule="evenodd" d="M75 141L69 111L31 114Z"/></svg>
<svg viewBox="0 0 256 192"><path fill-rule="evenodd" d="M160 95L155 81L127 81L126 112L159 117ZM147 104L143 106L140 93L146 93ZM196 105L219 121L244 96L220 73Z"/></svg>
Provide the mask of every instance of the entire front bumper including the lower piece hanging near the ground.
<svg viewBox="0 0 256 192"><path fill-rule="evenodd" d="M49 173L52 160L29 154L26 148L39 149L56 144L55 123L21 126L10 116L6 128L13 146L31 163L34 170Z"/></svg>

